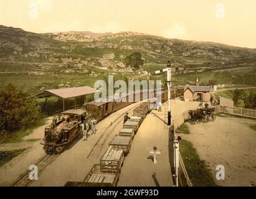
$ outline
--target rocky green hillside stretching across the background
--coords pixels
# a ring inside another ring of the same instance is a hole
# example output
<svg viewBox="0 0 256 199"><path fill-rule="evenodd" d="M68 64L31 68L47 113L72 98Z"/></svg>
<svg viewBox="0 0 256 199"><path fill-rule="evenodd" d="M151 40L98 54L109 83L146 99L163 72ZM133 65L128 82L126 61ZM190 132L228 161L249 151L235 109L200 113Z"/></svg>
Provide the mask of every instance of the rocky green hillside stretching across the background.
<svg viewBox="0 0 256 199"><path fill-rule="evenodd" d="M70 38L65 35L66 41L55 40L62 35L34 34L0 25L0 88L12 82L35 94L50 88L92 86L95 80L110 74L116 80L164 80L153 74L166 67L168 60L173 67L185 68L184 72L174 73L176 85L191 83L196 78L203 84L216 79L221 84L256 85L255 49L133 32L99 35L92 40L88 37L88 42L78 41L81 33L72 32ZM145 60L136 73L125 63L125 57L133 52L141 52Z"/></svg>

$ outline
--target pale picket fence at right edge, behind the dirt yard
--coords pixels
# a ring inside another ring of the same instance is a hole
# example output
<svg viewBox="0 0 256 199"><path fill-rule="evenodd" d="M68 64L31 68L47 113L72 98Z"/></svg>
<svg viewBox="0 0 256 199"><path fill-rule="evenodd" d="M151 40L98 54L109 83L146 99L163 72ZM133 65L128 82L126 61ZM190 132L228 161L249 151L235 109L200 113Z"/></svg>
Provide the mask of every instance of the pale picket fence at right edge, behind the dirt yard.
<svg viewBox="0 0 256 199"><path fill-rule="evenodd" d="M256 119L256 109L220 106L220 112L227 113L227 114L234 114L236 116L242 116L242 117L246 117L246 118L255 118Z"/></svg>

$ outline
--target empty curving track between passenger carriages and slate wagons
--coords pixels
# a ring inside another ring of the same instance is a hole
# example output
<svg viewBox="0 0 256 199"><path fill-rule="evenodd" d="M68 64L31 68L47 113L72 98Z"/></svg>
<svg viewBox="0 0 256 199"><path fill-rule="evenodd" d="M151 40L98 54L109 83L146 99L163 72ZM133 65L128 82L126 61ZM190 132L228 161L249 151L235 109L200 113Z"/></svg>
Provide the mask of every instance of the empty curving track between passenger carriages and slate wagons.
<svg viewBox="0 0 256 199"><path fill-rule="evenodd" d="M142 102L141 102L142 103ZM118 118L115 119L115 121L111 122L110 125L107 126L107 128L103 131L102 136L100 136L100 138L98 139L98 141L96 142L95 146L93 146L92 150L90 151L90 153L87 156L87 159L90 157L90 155L92 154L93 150L97 149L97 146L100 146L100 149L98 149L98 155L100 154L100 152L102 151L102 147L104 146L105 142L107 141L108 137L110 136L110 134L113 132L113 130L116 128L116 126L123 121L123 116L131 111L132 109L136 108L136 106L138 106L138 104L136 103L135 106L133 106L132 108L126 110L125 112L123 112L122 114L120 114L120 116L118 116ZM107 134L106 134L107 133Z"/></svg>

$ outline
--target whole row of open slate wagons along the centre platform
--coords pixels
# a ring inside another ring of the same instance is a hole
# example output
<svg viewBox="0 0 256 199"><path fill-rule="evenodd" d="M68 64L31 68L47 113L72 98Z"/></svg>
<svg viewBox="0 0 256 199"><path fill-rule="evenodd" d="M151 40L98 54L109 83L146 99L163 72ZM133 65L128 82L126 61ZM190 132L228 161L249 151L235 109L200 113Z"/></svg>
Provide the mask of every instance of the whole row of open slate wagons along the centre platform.
<svg viewBox="0 0 256 199"><path fill-rule="evenodd" d="M151 111L149 102L143 102L133 110L133 116L123 124L119 134L113 137L108 149L93 165L83 182L67 182L65 187L116 187L125 156L129 154L133 138Z"/></svg>

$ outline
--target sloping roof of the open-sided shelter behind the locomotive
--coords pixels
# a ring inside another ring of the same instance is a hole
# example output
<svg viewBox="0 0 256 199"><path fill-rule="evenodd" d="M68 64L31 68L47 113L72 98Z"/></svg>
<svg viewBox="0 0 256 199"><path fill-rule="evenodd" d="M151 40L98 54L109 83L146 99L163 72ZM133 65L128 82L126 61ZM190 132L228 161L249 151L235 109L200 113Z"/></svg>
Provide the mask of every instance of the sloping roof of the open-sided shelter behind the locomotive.
<svg viewBox="0 0 256 199"><path fill-rule="evenodd" d="M57 96L62 99L76 98L79 96L90 95L96 93L97 90L90 86L74 87L74 88L62 88L55 90L45 90L44 92L36 95L37 98L49 98L51 96Z"/></svg>

